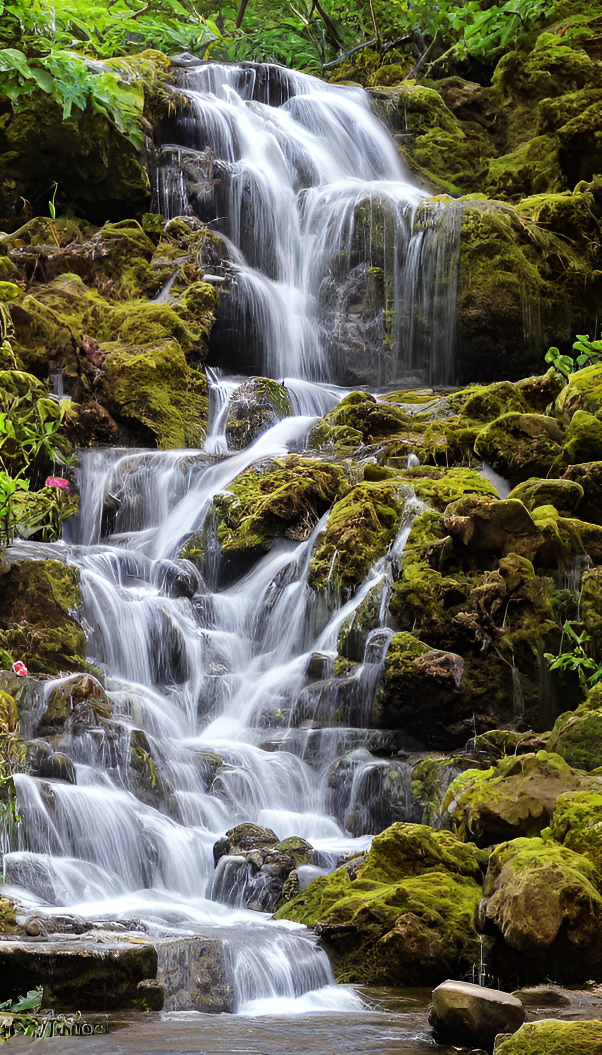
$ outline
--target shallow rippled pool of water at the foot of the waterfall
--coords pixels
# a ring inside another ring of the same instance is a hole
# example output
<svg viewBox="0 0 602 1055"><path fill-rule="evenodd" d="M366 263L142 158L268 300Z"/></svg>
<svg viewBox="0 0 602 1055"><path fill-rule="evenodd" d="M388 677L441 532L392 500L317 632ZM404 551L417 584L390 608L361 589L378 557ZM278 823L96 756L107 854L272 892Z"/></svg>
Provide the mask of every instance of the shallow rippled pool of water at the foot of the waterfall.
<svg viewBox="0 0 602 1055"><path fill-rule="evenodd" d="M105 1036L30 1041L6 1052L35 1055L455 1055L432 1043L430 990L362 989L365 1008L349 1014L201 1015L195 1012L111 1015Z"/></svg>

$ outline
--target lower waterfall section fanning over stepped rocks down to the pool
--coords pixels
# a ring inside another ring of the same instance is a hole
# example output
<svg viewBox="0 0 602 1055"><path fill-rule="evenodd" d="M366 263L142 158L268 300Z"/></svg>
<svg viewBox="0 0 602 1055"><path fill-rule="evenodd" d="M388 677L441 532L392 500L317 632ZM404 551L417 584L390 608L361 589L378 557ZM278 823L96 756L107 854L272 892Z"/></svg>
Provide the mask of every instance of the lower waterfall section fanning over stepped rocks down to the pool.
<svg viewBox="0 0 602 1055"><path fill-rule="evenodd" d="M75 783L15 776L20 822L4 858L7 890L42 915L138 920L159 936L219 934L233 1008L246 1013L290 1011L297 1000L305 1008L314 992L319 1008L361 1001L334 985L305 928L268 924L244 907L248 868L228 858L215 870L214 843L247 821L280 840L306 839L317 855L305 866L309 882L383 827L384 763L371 748L386 734L365 726L391 631L368 635L352 678L334 677L333 663L342 627L370 591L386 622L409 528L345 603L307 581L328 514L306 541L275 543L226 588L211 542L212 497L254 462L303 447L314 421L287 418L221 460L197 450L82 452L69 541L17 546L30 559L78 567L89 657L105 672L113 713L108 727L67 723L57 738ZM195 533L201 567L179 557ZM316 657L322 670L310 674ZM69 678L45 683L45 698L61 689ZM345 728L333 716L342 706ZM152 786L134 779L133 751L152 766ZM394 765L405 794L395 817L414 819L410 767Z"/></svg>

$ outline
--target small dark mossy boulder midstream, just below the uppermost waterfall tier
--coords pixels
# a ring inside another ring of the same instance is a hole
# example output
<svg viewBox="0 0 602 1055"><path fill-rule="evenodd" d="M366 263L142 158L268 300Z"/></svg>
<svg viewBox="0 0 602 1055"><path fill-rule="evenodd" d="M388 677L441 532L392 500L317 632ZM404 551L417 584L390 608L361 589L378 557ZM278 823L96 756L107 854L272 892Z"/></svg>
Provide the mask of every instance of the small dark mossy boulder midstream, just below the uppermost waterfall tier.
<svg viewBox="0 0 602 1055"><path fill-rule="evenodd" d="M284 385L269 378L249 378L230 401L226 439L233 450L246 447L277 421L292 414Z"/></svg>

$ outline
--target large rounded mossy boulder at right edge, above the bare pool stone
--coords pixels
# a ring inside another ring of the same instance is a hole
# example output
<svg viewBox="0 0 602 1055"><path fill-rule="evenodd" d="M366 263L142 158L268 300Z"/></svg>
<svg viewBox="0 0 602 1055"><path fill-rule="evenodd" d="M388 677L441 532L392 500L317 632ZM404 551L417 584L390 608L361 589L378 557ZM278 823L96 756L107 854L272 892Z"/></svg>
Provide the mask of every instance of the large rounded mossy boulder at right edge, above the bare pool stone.
<svg viewBox="0 0 602 1055"><path fill-rule="evenodd" d="M601 877L552 840L513 839L490 857L480 921L502 936L494 970L522 983L585 980L602 962Z"/></svg>

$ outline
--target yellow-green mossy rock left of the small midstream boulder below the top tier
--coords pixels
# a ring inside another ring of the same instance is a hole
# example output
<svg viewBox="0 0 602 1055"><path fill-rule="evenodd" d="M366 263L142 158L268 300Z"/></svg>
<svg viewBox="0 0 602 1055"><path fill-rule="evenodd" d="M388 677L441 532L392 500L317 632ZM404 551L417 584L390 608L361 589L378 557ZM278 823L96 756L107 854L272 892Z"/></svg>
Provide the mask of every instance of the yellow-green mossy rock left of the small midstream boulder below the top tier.
<svg viewBox="0 0 602 1055"><path fill-rule="evenodd" d="M161 448L202 446L207 378L189 367L175 340L138 351L117 343L103 350L101 396L113 417L142 426Z"/></svg>

